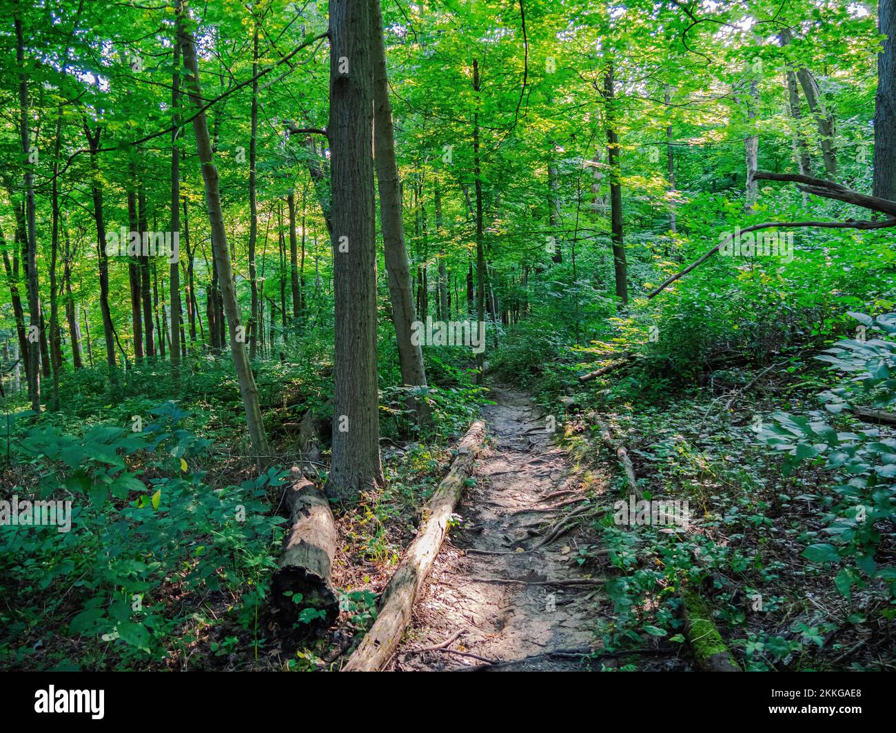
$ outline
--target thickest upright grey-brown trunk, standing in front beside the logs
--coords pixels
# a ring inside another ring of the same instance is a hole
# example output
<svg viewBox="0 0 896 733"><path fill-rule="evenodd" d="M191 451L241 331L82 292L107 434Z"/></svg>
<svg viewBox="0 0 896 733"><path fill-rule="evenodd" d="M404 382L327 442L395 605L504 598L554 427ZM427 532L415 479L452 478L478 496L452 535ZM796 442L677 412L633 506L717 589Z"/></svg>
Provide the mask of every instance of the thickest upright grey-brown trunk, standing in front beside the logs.
<svg viewBox="0 0 896 733"><path fill-rule="evenodd" d="M330 151L335 348L327 494L383 484L376 371L373 64L369 2L330 3Z"/></svg>

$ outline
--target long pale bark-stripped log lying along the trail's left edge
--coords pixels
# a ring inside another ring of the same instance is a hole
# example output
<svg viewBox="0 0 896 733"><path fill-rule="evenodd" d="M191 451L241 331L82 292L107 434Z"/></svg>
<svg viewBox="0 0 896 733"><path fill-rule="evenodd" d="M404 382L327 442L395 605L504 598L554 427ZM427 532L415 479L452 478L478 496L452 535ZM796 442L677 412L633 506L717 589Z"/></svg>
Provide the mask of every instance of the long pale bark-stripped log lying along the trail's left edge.
<svg viewBox="0 0 896 733"><path fill-rule="evenodd" d="M343 671L375 672L392 659L410 622L414 599L442 547L448 520L461 499L464 482L470 476L484 433L485 425L477 420L463 436L451 470L423 505L423 519L417 537L408 546L392 580L383 591L374 625L349 657Z"/></svg>

